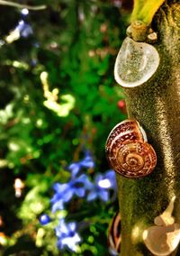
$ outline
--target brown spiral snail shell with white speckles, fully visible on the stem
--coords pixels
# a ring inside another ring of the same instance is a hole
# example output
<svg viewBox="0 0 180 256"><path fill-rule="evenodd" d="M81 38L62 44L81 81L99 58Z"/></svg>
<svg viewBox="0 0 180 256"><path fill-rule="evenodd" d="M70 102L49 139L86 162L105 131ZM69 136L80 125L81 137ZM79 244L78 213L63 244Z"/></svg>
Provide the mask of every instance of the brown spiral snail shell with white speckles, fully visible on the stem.
<svg viewBox="0 0 180 256"><path fill-rule="evenodd" d="M147 176L157 164L156 152L136 120L118 123L107 138L105 151L112 169L128 178Z"/></svg>

